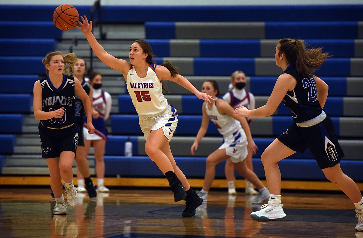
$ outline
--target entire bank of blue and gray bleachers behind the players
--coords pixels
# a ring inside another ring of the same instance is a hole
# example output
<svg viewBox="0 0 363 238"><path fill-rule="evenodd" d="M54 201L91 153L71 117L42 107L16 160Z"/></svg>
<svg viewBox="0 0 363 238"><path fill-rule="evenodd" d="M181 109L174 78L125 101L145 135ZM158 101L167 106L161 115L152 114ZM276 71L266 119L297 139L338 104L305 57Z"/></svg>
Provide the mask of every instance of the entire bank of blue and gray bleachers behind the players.
<svg viewBox="0 0 363 238"><path fill-rule="evenodd" d="M38 75L45 73L41 60L46 53L56 49L56 39L62 36L62 31L51 20L56 7L0 5L0 24L3 26L0 37L0 144L6 145L1 146L0 150L0 173L4 165L3 154L13 153L15 146L16 136L9 134L21 133L24 124L24 115L15 113L29 113L34 82L38 80ZM79 15L89 16L90 6L75 7ZM284 12L284 15L277 12ZM357 82L360 78L354 79L363 75L363 60L359 58L363 57L362 12L363 5L102 6L105 22L145 23L146 40L158 56L156 62L170 60L170 57L188 57L183 62L189 70L185 75L206 78L209 75L229 77L234 70L243 70L249 77L250 91L256 96L270 95L277 75L282 72L273 61L274 46L271 47L271 53L267 54L267 41L284 37L302 38L314 47L323 47L324 52L334 56L316 72L329 85L329 97L324 110L333 116L337 135L354 140L362 138L363 128L362 83ZM196 22L206 25L209 22L209 25L200 26ZM213 31L213 22L222 22L227 24L225 26L231 22L248 24L231 28L224 28L221 24L218 31ZM239 27L246 29L250 25L255 28L251 32L235 30ZM183 35L185 32L187 34ZM240 35L229 38L236 32ZM188 55L189 51L176 50L176 44L181 39L191 42L188 49L192 56ZM265 65L268 67L261 70ZM181 68L184 75L183 70ZM156 164L142 152L143 134L130 96L119 95L118 100L119 114L110 116L113 135L109 136L106 143L106 176L163 177ZM203 101L194 95L181 95L179 103L180 108L176 108L179 111L179 122L175 138L195 136L201 123ZM347 118L351 116L356 118ZM261 123L269 126L264 134L258 128ZM259 150L253 157L253 165L258 177L265 177L260 160L262 152L274 140L274 136L285 131L291 123L290 111L282 104L275 115L263 121L254 120L251 130L258 132L253 136L257 135L254 141ZM133 157L122 156L128 136L133 143ZM220 138L211 122L207 136ZM312 158L311 152L307 150L280 161L282 179L326 180ZM187 177L204 177L205 156L175 156L175 159ZM216 177L224 178L224 163L217 165ZM341 162L343 171L356 181L363 181L360 172L362 165L363 160L360 159L348 158ZM239 175L237 177L240 178Z"/></svg>

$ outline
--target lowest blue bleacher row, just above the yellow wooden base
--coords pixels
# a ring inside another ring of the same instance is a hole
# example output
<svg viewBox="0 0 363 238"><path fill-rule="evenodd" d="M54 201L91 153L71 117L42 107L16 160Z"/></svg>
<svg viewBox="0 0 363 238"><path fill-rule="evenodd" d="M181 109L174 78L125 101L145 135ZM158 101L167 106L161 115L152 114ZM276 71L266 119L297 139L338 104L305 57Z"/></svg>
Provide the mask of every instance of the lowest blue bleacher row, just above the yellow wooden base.
<svg viewBox="0 0 363 238"><path fill-rule="evenodd" d="M178 167L187 178L203 178L205 157L174 157ZM265 171L260 159L252 159L253 171L265 179ZM224 178L225 161L216 166L216 178ZM278 163L282 180L320 180L327 181L314 159L284 159ZM355 181L363 181L361 168L363 161L341 161L344 173ZM160 169L148 156L105 156L106 176L162 177ZM242 178L236 173L236 178Z"/></svg>

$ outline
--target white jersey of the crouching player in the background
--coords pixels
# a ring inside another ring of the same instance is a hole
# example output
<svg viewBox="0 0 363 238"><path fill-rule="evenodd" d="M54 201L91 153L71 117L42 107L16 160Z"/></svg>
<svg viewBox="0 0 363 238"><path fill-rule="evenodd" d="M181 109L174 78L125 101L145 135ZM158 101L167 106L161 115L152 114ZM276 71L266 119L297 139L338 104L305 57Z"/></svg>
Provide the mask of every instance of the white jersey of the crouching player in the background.
<svg viewBox="0 0 363 238"><path fill-rule="evenodd" d="M238 122L238 120L232 118L228 115L221 115L217 110L217 99L215 99L215 102L213 103L212 110L209 110L208 103L205 104L205 112L209 116L209 119L216 125L218 131L220 134L223 135L223 137L231 135L233 132L236 132L237 130L240 130L241 123ZM222 100L222 99L221 99Z"/></svg>

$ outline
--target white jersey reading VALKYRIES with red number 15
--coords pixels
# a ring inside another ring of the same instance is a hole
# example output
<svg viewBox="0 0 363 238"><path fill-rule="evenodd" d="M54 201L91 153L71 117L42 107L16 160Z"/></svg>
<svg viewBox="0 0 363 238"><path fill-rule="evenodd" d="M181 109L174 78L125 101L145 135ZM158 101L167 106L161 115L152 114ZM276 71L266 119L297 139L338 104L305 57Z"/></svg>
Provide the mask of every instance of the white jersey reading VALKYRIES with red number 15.
<svg viewBox="0 0 363 238"><path fill-rule="evenodd" d="M168 105L162 93L162 82L156 76L154 64L149 64L145 78L136 74L134 66L127 73L127 91L139 116L157 116L164 112Z"/></svg>

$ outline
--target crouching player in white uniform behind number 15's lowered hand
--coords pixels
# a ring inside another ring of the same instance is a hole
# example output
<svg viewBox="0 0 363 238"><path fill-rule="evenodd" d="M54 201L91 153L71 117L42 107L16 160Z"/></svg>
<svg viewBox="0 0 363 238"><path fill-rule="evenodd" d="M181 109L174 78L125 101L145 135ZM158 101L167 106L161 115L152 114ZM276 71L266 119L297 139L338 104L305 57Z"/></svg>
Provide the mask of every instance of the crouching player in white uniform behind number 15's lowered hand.
<svg viewBox="0 0 363 238"><path fill-rule="evenodd" d="M219 86L215 80L205 81L202 86L202 92L214 97L215 101L203 103L202 123L191 147L191 153L194 155L194 151L198 149L200 140L208 130L209 120L216 125L219 133L223 135L224 143L207 157L203 189L199 192L199 195L203 200L207 199L209 189L216 175L216 165L224 160L231 159L237 172L251 181L260 190L261 200L268 200L268 188L247 167L245 160L248 152L255 153L257 149L256 144L252 140L247 120L242 117L238 118L238 120L234 118L233 108L223 99L219 98Z"/></svg>

